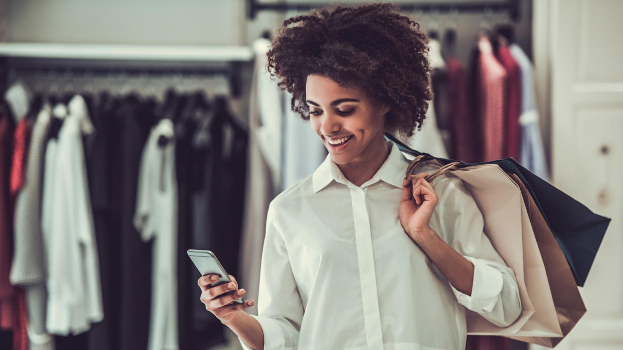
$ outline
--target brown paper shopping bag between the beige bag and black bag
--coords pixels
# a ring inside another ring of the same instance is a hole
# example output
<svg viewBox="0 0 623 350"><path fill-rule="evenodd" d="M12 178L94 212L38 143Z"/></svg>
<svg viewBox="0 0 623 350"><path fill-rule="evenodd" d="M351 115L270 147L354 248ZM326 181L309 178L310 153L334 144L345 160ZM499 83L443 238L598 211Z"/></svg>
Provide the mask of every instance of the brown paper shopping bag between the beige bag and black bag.
<svg viewBox="0 0 623 350"><path fill-rule="evenodd" d="M518 185L521 195L526 203L528 216L535 233L536 242L541 251L545 272L549 281L549 290L554 301L556 314L563 333L563 336L569 334L569 331L578 323L579 319L586 313L586 306L579 293L573 272L564 257L563 251L558 246L558 242L551 233L548 224L543 218L543 214L536 206L530 192L521 182L520 178L514 173L508 173L508 176ZM539 344L553 348L560 343L563 338L549 337L524 337L511 336L510 338L525 341L527 343Z"/></svg>

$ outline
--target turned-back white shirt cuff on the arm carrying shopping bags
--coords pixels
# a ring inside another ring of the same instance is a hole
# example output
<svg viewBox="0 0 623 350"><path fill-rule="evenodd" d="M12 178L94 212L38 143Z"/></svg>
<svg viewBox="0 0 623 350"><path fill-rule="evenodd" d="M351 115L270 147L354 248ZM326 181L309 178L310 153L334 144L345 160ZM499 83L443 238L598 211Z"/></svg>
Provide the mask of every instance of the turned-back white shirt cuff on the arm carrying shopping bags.
<svg viewBox="0 0 623 350"><path fill-rule="evenodd" d="M474 267L472 295L460 292L457 288L454 288L452 283L448 282L452 292L454 292L459 303L469 310L477 313L482 313L483 311L491 312L498 298L500 298L500 292L502 292L502 272L481 259L464 257L470 260Z"/></svg>

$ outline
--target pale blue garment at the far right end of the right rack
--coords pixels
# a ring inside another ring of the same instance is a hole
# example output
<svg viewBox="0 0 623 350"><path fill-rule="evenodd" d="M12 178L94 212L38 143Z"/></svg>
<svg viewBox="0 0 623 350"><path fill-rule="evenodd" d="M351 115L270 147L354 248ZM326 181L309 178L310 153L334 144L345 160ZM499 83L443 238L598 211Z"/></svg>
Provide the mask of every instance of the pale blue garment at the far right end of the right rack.
<svg viewBox="0 0 623 350"><path fill-rule="evenodd" d="M536 176L549 182L548 167L543 150L539 115L536 111L535 82L532 63L517 44L510 45L510 52L521 68L521 145L519 162Z"/></svg>

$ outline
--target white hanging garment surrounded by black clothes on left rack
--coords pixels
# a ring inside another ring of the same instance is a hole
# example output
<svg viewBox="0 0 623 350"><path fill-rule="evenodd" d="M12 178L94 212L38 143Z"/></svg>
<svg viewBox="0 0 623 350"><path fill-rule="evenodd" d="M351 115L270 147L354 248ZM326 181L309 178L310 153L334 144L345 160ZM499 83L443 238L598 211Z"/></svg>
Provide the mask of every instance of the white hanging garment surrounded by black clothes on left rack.
<svg viewBox="0 0 623 350"><path fill-rule="evenodd" d="M173 122L165 118L151 129L143 148L133 221L143 241L153 239L154 265L148 350L179 348L177 205Z"/></svg>

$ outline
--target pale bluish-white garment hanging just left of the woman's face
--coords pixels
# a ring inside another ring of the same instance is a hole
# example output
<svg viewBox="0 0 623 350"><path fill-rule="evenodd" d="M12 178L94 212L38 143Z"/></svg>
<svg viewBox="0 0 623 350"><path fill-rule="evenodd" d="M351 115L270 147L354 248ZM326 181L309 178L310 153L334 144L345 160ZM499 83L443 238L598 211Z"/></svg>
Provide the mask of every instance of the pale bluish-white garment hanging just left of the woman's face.
<svg viewBox="0 0 623 350"><path fill-rule="evenodd" d="M301 116L290 109L292 94L283 91L283 174L281 190L294 185L318 168L326 157L326 147Z"/></svg>

